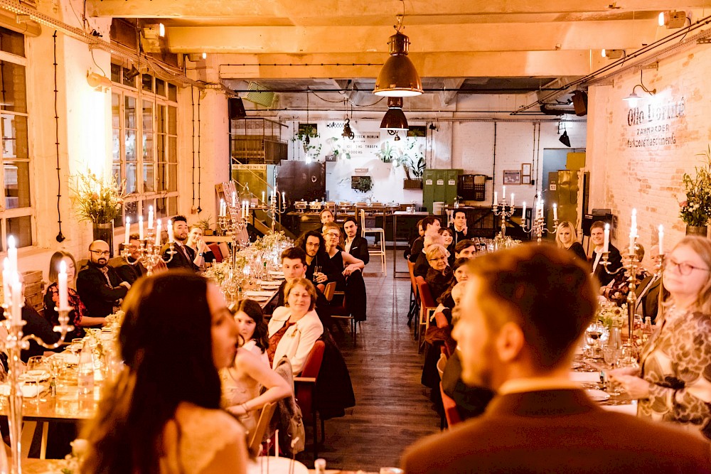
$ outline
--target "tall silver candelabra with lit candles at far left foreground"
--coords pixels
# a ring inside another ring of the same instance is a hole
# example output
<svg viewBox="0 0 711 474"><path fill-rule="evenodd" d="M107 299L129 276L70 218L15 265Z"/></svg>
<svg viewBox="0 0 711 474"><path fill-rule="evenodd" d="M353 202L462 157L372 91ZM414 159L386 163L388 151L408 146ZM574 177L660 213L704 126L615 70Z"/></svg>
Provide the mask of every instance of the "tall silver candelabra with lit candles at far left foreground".
<svg viewBox="0 0 711 474"><path fill-rule="evenodd" d="M10 428L10 452L11 452L11 473L21 474L21 432L22 432L22 389L19 375L22 362L20 360L21 350L30 347L30 340L35 341L46 349L58 348L65 340L68 332L74 330L74 326L69 325L69 313L73 310L68 304L67 286L67 266L65 262L60 263L58 274L59 286L59 307L55 311L59 314L59 325L53 330L60 334L59 340L54 344L46 344L35 335L23 335L22 328L25 321L22 320L22 308L24 300L22 296L22 283L17 271L17 249L15 239L10 236L7 239L8 257L4 262L3 269L3 304L5 321L3 322L7 335L0 339L0 347L8 354L8 379L10 383L9 395L9 428ZM39 391L39 387L37 387ZM39 394L37 394L39 396ZM4 458L4 456L3 456ZM6 467L6 466L0 466Z"/></svg>

